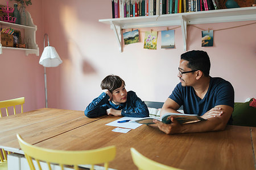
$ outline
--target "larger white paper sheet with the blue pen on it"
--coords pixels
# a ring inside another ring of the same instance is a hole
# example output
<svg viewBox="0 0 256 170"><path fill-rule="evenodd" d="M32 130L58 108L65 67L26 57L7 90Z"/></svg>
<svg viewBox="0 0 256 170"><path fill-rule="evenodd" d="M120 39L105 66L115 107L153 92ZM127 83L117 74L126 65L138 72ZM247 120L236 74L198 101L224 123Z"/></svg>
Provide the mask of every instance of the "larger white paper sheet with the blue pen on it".
<svg viewBox="0 0 256 170"><path fill-rule="evenodd" d="M123 121L123 120L131 120L131 121L134 121L134 120L137 120L139 118L131 118L131 117L122 117L120 119L117 119L113 122L110 122L110 123L107 123L106 125L107 126L115 126L115 127L123 127L123 128L132 128L132 129L135 129L139 126L141 126L142 124L140 123L133 123L133 122L125 122L125 123L117 123L118 121Z"/></svg>

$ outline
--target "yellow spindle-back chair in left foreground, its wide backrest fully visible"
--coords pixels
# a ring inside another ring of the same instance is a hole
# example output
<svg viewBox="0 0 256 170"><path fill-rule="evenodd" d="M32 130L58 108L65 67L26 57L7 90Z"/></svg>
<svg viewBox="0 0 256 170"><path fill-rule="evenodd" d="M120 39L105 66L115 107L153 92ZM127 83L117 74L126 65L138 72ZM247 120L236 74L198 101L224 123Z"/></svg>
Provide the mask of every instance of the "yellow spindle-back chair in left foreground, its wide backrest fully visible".
<svg viewBox="0 0 256 170"><path fill-rule="evenodd" d="M59 164L61 169L63 169L64 165L73 165L74 169L79 169L79 164L90 164L92 165L90 169L94 169L94 164L104 163L105 169L108 169L109 161L112 161L115 157L115 146L88 151L60 151L33 146L25 142L19 134L16 136L19 141L19 146L30 165L30 169L33 170L35 167L32 163L32 159L36 160L40 169L39 161L45 161L49 169L51 169L51 163Z"/></svg>

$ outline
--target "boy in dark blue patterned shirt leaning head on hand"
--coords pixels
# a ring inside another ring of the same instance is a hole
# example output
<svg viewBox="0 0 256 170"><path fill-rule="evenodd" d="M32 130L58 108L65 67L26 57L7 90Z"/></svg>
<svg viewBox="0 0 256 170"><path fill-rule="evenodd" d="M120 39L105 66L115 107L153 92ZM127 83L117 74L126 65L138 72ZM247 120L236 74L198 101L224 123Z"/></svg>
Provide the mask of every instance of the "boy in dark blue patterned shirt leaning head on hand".
<svg viewBox="0 0 256 170"><path fill-rule="evenodd" d="M148 117L147 105L135 92L127 92L125 81L119 76L109 75L101 81L102 93L86 107L84 114L88 118L101 115L124 117ZM107 95L106 95L107 94Z"/></svg>

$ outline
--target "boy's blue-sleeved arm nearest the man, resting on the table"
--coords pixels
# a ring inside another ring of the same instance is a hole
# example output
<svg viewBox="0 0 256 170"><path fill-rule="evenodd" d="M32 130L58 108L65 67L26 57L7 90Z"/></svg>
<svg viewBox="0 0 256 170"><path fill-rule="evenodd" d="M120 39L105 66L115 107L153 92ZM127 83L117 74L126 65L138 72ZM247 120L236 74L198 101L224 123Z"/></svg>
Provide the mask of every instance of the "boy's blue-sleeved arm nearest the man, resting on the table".
<svg viewBox="0 0 256 170"><path fill-rule="evenodd" d="M126 107L122 109L122 116L144 118L149 117L147 105L136 95L130 91L130 99L127 99Z"/></svg>

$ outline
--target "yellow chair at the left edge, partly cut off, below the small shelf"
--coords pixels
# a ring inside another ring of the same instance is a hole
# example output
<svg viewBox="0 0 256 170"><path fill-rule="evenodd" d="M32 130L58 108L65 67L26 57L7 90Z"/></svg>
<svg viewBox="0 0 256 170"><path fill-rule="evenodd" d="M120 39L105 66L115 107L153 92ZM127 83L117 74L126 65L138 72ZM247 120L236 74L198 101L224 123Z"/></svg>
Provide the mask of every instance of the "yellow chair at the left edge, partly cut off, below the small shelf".
<svg viewBox="0 0 256 170"><path fill-rule="evenodd" d="M14 114L16 114L16 107L15 106L20 105L21 106L21 113L23 113L23 104L24 104L24 102L25 102L24 97L9 99L9 100L5 100L5 101L0 101L0 118L2 118L1 108L5 108L6 116L9 116L8 107L13 106ZM8 154L10 154L10 152L8 152ZM7 155L6 155L5 150L3 150L3 148L2 148L2 153L0 151L0 169L3 169L4 167L7 169Z"/></svg>

